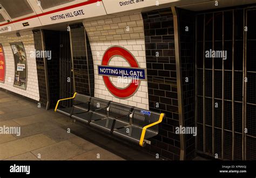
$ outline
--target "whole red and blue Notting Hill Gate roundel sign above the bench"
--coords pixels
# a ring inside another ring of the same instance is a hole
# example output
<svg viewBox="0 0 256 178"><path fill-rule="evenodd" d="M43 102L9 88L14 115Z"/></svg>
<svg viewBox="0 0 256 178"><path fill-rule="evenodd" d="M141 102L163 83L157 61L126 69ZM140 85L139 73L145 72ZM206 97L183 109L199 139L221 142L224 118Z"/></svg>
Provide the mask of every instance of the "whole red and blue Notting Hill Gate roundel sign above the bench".
<svg viewBox="0 0 256 178"><path fill-rule="evenodd" d="M130 67L109 66L110 60L115 56L124 58ZM103 55L102 66L98 66L98 73L99 75L103 75L106 88L111 94L123 99L131 97L137 91L140 80L146 80L146 70L139 68L134 56L127 49L119 46L112 46L106 50ZM131 79L131 82L125 88L118 88L110 81L110 76L128 77Z"/></svg>

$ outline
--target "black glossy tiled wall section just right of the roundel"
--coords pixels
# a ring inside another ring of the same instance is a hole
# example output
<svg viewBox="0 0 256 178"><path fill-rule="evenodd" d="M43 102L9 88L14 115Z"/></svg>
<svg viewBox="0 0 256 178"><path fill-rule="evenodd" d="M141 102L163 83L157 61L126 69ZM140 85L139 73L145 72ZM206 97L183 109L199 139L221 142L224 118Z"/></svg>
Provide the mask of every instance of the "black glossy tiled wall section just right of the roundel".
<svg viewBox="0 0 256 178"><path fill-rule="evenodd" d="M179 111L171 8L145 12L143 20L150 110L166 113L149 151L179 160L180 136L174 132L179 126Z"/></svg>

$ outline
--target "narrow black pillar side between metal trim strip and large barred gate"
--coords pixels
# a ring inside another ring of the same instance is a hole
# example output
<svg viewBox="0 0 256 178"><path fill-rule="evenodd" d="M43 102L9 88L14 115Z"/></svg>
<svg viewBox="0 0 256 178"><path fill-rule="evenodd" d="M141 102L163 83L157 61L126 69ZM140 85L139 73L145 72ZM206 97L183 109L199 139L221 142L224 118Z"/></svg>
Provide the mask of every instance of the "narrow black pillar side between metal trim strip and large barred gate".
<svg viewBox="0 0 256 178"><path fill-rule="evenodd" d="M194 60L194 44L195 44L195 22L194 13L183 9L177 9L179 17L180 32L180 51L181 51L181 71L183 83L183 107L184 120L186 127L195 126L195 60ZM186 159L190 160L195 155L195 139L193 134L186 135Z"/></svg>

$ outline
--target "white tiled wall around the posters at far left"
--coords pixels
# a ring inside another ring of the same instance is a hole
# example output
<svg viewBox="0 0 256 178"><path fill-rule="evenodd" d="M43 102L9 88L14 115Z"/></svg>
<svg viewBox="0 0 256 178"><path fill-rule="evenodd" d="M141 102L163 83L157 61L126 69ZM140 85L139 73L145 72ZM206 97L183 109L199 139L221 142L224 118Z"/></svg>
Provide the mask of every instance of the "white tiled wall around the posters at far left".
<svg viewBox="0 0 256 178"><path fill-rule="evenodd" d="M2 44L5 55L5 82L0 83L0 88L16 92L17 94L35 99L39 101L39 90L38 90L38 81L37 81L37 67L36 59L30 57L30 51L35 50L33 33L32 31L21 32L21 37L17 37L15 33L12 34L1 34L0 35L0 44ZM28 82L26 90L19 89L14 87L14 54L10 46L10 42L23 42L26 59L28 63Z"/></svg>

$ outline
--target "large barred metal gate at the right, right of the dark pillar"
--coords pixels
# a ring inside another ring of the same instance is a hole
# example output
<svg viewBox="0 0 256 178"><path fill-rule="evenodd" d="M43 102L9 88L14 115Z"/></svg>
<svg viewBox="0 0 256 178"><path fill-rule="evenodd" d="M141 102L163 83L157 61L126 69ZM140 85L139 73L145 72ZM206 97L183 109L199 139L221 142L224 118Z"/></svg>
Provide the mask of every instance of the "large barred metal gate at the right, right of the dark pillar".
<svg viewBox="0 0 256 178"><path fill-rule="evenodd" d="M256 159L255 18L256 10L250 8L197 15L197 152ZM227 51L226 60L207 58L212 51Z"/></svg>

